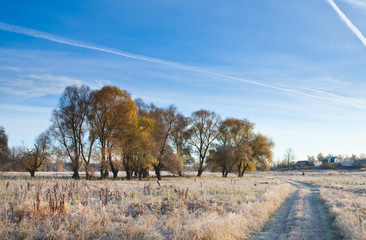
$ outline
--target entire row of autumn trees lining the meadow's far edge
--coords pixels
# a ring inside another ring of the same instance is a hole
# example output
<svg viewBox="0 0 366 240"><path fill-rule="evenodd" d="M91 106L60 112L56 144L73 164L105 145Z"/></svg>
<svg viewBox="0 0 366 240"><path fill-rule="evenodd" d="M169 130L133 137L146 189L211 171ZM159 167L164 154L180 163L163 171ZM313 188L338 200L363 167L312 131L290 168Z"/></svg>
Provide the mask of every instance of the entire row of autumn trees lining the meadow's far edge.
<svg viewBox="0 0 366 240"><path fill-rule="evenodd" d="M8 136L0 128L0 163L10 163L35 176L45 163L62 155L70 162L73 178L84 169L92 177L98 166L100 178L118 172L147 177L153 170L160 180L162 171L182 175L191 165L201 176L206 169L230 172L242 177L272 163L273 141L254 132L247 119L222 120L215 112L198 110L186 117L174 105L165 108L132 100L126 90L104 86L68 86L51 116L51 126L40 134L33 147L9 149Z"/></svg>

